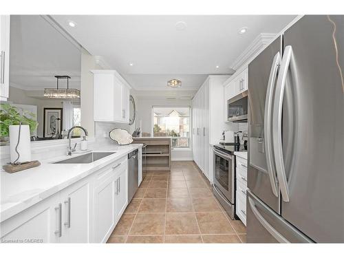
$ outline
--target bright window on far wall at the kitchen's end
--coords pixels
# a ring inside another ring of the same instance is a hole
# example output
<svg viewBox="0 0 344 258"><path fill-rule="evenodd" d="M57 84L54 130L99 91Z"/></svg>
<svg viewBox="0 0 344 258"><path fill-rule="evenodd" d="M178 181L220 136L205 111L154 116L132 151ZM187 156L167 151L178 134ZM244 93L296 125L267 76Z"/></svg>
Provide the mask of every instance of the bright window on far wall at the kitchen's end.
<svg viewBox="0 0 344 258"><path fill-rule="evenodd" d="M153 136L171 136L173 148L190 147L190 107L153 107Z"/></svg>

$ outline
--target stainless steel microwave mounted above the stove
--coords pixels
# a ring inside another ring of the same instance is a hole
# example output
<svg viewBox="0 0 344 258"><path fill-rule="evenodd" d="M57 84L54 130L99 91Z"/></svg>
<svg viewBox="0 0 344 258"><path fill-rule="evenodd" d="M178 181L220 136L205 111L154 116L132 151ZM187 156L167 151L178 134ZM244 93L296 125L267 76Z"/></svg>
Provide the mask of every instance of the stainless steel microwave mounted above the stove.
<svg viewBox="0 0 344 258"><path fill-rule="evenodd" d="M230 122L246 122L247 105L247 91L227 100L227 120Z"/></svg>

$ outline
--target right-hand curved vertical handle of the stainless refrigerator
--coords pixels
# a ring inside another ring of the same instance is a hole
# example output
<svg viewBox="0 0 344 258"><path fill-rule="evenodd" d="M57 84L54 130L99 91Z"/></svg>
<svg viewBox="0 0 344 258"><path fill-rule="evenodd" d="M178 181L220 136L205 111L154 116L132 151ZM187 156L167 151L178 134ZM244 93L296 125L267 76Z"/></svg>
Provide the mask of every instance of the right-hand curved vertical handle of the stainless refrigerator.
<svg viewBox="0 0 344 258"><path fill-rule="evenodd" d="M288 68L290 66L290 60L292 58L292 46L287 45L277 78L277 86L275 92L275 100L272 114L272 138L273 147L275 153L275 164L277 171L277 178L279 180L279 188L281 189L281 195L284 202L289 202L289 189L288 181L286 177L286 169L283 161L283 149L282 149L282 107L284 89L286 87L286 78L288 74Z"/></svg>

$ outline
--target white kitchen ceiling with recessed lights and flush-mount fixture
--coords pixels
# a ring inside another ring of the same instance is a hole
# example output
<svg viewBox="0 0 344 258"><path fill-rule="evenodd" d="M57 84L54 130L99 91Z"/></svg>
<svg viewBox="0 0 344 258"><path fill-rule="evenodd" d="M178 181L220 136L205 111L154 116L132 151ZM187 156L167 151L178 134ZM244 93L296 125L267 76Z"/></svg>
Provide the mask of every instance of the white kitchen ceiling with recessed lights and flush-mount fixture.
<svg viewBox="0 0 344 258"><path fill-rule="evenodd" d="M102 56L117 69L134 89L166 90L167 80L178 78L182 80L178 90L194 90L208 74L233 74L230 65L259 34L277 33L295 16L52 17L89 53ZM69 21L76 26L70 27ZM247 32L239 34L243 27Z"/></svg>

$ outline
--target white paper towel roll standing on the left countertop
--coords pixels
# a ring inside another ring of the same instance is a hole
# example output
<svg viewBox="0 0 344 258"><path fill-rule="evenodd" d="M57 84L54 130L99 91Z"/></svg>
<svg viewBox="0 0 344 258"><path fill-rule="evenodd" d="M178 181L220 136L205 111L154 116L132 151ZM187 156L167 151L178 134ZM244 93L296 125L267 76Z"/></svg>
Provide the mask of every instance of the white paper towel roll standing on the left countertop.
<svg viewBox="0 0 344 258"><path fill-rule="evenodd" d="M19 125L10 125L10 155L11 162L18 158L16 146L18 143ZM31 144L30 144L30 127L28 125L21 125L21 135L17 147L19 152L19 160L17 162L31 161Z"/></svg>

